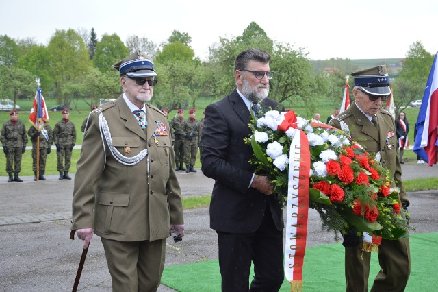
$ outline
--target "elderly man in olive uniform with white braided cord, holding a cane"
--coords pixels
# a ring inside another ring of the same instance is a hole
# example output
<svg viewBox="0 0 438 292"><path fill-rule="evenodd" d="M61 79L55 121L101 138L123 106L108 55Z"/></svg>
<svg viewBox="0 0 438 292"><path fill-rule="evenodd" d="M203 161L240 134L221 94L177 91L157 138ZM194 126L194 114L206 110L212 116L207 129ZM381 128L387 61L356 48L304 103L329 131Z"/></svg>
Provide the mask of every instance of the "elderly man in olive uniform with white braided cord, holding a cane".
<svg viewBox="0 0 438 292"><path fill-rule="evenodd" d="M112 291L157 291L166 238L184 235L169 122L149 101L157 83L141 51L114 64L123 94L90 115L77 162L73 226L101 237Z"/></svg>

